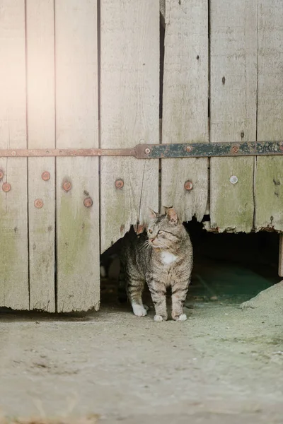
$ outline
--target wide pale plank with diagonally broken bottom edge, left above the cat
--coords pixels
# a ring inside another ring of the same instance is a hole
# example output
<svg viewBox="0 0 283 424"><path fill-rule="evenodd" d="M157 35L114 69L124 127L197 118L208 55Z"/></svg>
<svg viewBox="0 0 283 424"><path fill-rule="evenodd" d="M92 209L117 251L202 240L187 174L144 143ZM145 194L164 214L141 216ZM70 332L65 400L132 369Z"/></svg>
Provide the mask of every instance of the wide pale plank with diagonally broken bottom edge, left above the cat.
<svg viewBox="0 0 283 424"><path fill-rule="evenodd" d="M158 143L158 0L102 0L100 143ZM101 251L158 208L158 160L101 158ZM122 189L115 180L122 179Z"/></svg>

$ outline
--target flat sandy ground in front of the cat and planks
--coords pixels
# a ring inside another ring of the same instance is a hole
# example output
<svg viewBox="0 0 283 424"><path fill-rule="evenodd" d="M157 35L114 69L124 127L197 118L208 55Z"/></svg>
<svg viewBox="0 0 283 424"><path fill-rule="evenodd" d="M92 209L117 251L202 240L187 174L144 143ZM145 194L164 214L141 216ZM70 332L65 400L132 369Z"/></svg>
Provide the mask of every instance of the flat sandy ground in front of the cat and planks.
<svg viewBox="0 0 283 424"><path fill-rule="evenodd" d="M156 323L152 309L134 317L128 305L73 318L2 313L1 412L96 413L99 423L283 423L282 307L187 306L187 322Z"/></svg>

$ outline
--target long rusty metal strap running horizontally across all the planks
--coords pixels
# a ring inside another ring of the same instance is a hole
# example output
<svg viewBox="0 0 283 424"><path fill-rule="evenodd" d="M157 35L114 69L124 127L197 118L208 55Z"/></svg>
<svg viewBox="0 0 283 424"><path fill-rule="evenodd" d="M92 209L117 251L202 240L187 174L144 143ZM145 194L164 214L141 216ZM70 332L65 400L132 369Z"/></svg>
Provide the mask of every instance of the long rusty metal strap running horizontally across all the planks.
<svg viewBox="0 0 283 424"><path fill-rule="evenodd" d="M250 143L138 144L134 148L3 149L0 158L132 156L137 159L283 155L283 141Z"/></svg>

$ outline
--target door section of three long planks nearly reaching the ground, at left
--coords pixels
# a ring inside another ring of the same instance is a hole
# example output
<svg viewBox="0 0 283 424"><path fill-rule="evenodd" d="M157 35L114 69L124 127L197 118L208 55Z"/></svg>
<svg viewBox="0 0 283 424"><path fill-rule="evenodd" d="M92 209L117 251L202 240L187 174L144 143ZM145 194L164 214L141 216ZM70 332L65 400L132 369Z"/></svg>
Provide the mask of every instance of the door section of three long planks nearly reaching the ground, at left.
<svg viewBox="0 0 283 424"><path fill-rule="evenodd" d="M98 147L97 1L0 11L0 148ZM98 310L98 191L98 158L0 158L0 307Z"/></svg>

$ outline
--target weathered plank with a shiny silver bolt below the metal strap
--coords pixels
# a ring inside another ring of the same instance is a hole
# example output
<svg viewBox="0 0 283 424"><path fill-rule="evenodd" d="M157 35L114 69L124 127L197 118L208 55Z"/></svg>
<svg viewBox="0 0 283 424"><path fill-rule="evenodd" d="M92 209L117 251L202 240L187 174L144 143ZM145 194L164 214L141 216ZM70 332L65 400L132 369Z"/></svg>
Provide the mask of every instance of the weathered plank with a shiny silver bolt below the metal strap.
<svg viewBox="0 0 283 424"><path fill-rule="evenodd" d="M258 80L256 0L210 2L210 140L255 141ZM253 228L253 158L212 158L212 228ZM237 177L238 182L233 184Z"/></svg>

